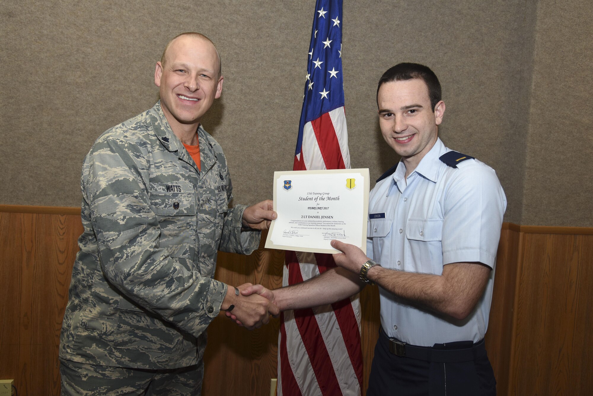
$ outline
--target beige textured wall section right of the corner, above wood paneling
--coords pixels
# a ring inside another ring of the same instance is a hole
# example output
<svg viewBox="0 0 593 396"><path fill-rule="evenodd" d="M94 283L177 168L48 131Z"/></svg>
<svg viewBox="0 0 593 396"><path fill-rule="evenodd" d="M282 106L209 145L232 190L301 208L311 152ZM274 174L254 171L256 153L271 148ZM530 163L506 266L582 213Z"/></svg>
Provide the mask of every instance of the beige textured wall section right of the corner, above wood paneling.
<svg viewBox="0 0 593 396"><path fill-rule="evenodd" d="M522 221L593 225L593 2L538 5Z"/></svg>

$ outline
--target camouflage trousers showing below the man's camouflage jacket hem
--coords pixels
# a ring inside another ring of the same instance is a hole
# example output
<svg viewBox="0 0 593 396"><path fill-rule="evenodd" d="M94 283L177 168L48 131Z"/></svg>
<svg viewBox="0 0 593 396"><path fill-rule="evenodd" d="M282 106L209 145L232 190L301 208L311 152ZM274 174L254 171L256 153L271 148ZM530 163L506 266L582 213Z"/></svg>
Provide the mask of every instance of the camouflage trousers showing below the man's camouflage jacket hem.
<svg viewBox="0 0 593 396"><path fill-rule="evenodd" d="M178 369L145 370L60 359L62 396L199 396L203 374L203 362Z"/></svg>

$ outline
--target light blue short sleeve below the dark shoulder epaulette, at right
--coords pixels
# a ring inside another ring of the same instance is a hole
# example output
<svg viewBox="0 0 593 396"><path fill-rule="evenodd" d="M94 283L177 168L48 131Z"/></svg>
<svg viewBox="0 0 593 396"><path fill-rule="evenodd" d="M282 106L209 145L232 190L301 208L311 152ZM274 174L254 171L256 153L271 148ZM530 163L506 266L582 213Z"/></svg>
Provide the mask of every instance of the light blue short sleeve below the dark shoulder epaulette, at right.
<svg viewBox="0 0 593 396"><path fill-rule="evenodd" d="M444 192L443 264L477 261L493 268L505 193L492 168L481 163L458 166Z"/></svg>

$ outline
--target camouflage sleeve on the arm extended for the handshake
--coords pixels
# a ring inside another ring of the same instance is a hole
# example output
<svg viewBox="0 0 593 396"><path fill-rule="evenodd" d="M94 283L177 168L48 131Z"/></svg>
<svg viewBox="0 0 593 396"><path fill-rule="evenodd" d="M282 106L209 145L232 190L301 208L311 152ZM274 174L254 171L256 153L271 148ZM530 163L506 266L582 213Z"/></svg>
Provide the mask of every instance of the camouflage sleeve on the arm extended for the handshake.
<svg viewBox="0 0 593 396"><path fill-rule="evenodd" d="M136 143L110 136L89 154L84 194L101 269L127 298L199 336L218 314L227 286L186 269L160 246L145 184L146 156Z"/></svg>

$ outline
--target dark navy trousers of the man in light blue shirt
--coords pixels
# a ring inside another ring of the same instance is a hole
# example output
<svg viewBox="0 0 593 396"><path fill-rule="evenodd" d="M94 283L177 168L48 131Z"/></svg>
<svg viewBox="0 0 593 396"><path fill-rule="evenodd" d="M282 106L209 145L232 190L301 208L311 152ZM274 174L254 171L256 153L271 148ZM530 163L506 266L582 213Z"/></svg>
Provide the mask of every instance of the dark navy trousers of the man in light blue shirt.
<svg viewBox="0 0 593 396"><path fill-rule="evenodd" d="M495 396L496 380L484 353L468 362L426 362L393 355L381 330L375 346L367 396ZM433 349L471 348L473 342L435 344Z"/></svg>

